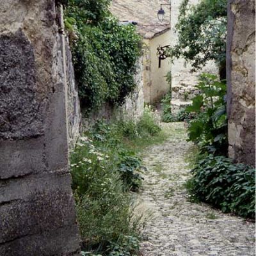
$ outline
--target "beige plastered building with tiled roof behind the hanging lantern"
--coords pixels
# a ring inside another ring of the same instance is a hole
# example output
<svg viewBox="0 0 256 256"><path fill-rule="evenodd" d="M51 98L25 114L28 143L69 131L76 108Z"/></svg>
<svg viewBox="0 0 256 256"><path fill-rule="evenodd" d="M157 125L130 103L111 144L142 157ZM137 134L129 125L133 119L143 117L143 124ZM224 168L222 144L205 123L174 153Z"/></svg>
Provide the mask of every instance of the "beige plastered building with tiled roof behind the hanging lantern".
<svg viewBox="0 0 256 256"><path fill-rule="evenodd" d="M168 4L168 0L113 0L111 12L120 22L137 22L138 32L143 36L143 93L145 103L157 102L170 90L166 74L171 70L169 59L161 61L157 57L157 47L170 45L170 7L163 6L166 17L159 22L157 11L160 4Z"/></svg>

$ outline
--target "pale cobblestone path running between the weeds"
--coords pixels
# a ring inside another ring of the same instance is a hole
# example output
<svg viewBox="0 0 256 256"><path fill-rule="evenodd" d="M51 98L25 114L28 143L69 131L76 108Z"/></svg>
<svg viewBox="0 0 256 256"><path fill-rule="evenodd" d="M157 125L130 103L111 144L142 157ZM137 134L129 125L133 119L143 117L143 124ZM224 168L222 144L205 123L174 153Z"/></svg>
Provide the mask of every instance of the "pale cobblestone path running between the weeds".
<svg viewBox="0 0 256 256"><path fill-rule="evenodd" d="M164 124L170 137L143 153L148 172L139 196L140 211L151 212L143 231L143 256L252 256L255 224L188 201L184 182L192 147L182 123Z"/></svg>

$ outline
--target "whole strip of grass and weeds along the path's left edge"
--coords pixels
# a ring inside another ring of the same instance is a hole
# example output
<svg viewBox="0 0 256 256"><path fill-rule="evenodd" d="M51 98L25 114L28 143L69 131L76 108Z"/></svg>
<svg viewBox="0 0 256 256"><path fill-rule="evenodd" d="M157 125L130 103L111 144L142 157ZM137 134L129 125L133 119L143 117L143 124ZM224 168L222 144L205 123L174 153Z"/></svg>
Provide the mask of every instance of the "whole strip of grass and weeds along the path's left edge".
<svg viewBox="0 0 256 256"><path fill-rule="evenodd" d="M140 188L145 170L131 145L160 130L146 108L138 122L98 122L80 138L70 165L84 255L138 255L141 223L131 191Z"/></svg>

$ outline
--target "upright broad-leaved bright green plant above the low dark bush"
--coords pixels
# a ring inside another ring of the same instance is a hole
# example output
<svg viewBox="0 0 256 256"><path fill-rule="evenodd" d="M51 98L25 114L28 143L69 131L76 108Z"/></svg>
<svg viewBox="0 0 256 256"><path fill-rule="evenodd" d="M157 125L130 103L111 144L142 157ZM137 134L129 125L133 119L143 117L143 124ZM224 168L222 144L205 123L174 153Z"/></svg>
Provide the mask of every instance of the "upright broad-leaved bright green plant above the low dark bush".
<svg viewBox="0 0 256 256"><path fill-rule="evenodd" d="M225 95L227 86L215 75L202 74L196 86L200 94L193 98L193 104L186 108L194 113L189 122L189 140L197 143L201 150L214 154L227 153L227 114Z"/></svg>

